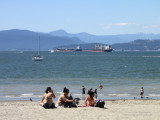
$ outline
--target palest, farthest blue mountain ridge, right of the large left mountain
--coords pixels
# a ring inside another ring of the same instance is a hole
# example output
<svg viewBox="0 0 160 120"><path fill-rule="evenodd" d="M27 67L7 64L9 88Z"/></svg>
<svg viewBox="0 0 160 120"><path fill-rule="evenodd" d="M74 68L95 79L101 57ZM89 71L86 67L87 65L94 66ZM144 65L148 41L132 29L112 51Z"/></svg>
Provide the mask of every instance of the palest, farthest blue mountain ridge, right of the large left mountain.
<svg viewBox="0 0 160 120"><path fill-rule="evenodd" d="M57 30L50 32L50 34L59 37L62 36L76 37L87 43L103 43L110 45L115 43L131 42L137 39L160 39L160 34L145 34L145 33L122 34L122 35L92 35L85 32L71 34L67 33L64 30Z"/></svg>

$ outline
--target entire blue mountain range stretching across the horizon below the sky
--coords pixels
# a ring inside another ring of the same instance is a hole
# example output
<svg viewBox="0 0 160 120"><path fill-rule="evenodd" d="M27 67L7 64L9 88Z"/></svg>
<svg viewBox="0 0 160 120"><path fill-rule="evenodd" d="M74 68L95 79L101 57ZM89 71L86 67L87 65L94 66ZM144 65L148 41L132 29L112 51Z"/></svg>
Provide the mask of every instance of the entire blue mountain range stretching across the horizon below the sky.
<svg viewBox="0 0 160 120"><path fill-rule="evenodd" d="M160 34L123 34L123 35L91 35L88 33L70 34L64 30L50 33L33 32L29 30L0 31L0 51L38 50L40 36L41 50L46 51L58 47L75 47L81 45L85 49L94 48L94 43L111 44L115 50L159 50ZM140 39L140 40L136 40ZM145 39L145 40L144 40ZM146 40L152 39L152 40ZM159 39L159 40L154 40ZM134 41L136 40L136 41ZM133 42L131 42L133 41Z"/></svg>

